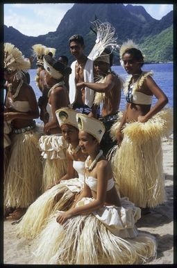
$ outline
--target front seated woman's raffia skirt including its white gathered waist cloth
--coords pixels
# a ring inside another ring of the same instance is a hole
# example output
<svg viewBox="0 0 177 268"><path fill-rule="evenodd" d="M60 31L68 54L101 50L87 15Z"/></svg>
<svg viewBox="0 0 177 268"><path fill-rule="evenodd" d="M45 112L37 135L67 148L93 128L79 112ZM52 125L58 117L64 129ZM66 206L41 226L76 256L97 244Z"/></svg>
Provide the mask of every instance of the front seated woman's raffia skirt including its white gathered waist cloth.
<svg viewBox="0 0 177 268"><path fill-rule="evenodd" d="M93 198L83 198L76 206L92 201ZM154 237L135 227L140 208L126 199L121 201L121 207L104 206L73 216L63 225L56 222L62 212L56 212L35 239L35 264L131 265L154 258Z"/></svg>

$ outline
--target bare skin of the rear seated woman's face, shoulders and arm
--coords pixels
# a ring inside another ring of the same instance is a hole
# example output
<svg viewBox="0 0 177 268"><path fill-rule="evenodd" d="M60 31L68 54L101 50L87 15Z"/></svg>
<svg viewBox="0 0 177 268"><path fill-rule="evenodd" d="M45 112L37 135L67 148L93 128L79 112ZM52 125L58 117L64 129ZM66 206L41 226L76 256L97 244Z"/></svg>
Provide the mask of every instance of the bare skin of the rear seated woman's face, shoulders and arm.
<svg viewBox="0 0 177 268"><path fill-rule="evenodd" d="M76 147L78 146L78 129L69 124L63 124L61 126L61 129L62 129L62 136L64 137L65 141L71 144L73 149L76 149ZM74 153L73 155L70 155L69 151L67 150L66 157L67 157L67 174L65 174L61 180L70 180L71 178L75 178L76 171L73 167L73 160L85 161L85 159L87 158L87 154L83 154L81 150L78 150L78 152ZM60 180L56 182L56 184L59 183ZM50 184L47 187L47 189L50 189L56 184Z"/></svg>

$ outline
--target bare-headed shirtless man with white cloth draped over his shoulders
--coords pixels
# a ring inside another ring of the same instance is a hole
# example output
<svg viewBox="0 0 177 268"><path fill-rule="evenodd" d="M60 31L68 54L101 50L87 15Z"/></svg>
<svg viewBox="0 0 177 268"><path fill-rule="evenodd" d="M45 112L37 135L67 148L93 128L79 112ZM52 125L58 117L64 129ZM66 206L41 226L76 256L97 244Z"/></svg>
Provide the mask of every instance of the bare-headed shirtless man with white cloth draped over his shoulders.
<svg viewBox="0 0 177 268"><path fill-rule="evenodd" d="M71 54L76 58L76 61L71 64L72 73L69 77L69 100L71 107L81 113L89 114L92 111L94 90L85 86L77 88L76 84L83 81L94 81L93 61L83 53L85 46L82 36L71 36L69 38L69 47Z"/></svg>

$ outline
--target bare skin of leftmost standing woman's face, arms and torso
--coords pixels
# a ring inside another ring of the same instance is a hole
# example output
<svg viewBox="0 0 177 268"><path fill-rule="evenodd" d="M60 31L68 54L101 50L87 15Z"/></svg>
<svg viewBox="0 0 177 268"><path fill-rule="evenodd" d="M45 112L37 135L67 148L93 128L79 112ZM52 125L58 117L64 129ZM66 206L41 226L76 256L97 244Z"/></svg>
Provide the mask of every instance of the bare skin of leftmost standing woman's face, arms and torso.
<svg viewBox="0 0 177 268"><path fill-rule="evenodd" d="M4 73L4 78L8 81L8 84L12 84L12 95L15 94L17 86L19 85L19 81L14 81L15 72L12 74L8 74L8 72ZM6 110L4 115L4 120L12 121L12 125L15 128L28 127L32 125L33 119L39 117L39 109L37 106L37 100L35 98L35 93L33 88L28 84L22 84L22 88L19 90L19 94L13 100L10 92L7 93L6 96ZM10 108L9 98L13 101L25 101L28 102L31 108L31 111L21 112L16 111L15 109Z"/></svg>

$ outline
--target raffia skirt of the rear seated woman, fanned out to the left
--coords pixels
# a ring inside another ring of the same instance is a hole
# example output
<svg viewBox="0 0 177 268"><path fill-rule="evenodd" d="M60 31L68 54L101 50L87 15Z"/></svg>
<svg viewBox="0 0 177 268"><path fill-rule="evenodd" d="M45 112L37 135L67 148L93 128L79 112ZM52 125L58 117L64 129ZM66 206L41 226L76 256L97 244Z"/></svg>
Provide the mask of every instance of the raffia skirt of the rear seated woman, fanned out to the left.
<svg viewBox="0 0 177 268"><path fill-rule="evenodd" d="M63 180L42 194L26 211L17 224L17 237L33 239L44 229L51 214L56 210L68 210L76 194L83 189L83 180Z"/></svg>

